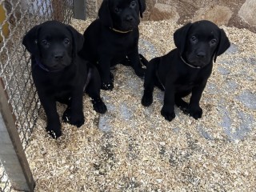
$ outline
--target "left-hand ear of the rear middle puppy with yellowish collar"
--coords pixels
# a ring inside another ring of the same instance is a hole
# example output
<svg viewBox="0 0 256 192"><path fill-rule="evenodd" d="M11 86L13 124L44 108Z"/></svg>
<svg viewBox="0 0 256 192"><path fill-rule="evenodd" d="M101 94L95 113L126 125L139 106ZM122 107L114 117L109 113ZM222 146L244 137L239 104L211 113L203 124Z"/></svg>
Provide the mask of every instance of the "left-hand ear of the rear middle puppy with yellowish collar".
<svg viewBox="0 0 256 192"><path fill-rule="evenodd" d="M98 10L98 18L104 26L109 26L110 28L113 28L109 0L103 0L102 5Z"/></svg>

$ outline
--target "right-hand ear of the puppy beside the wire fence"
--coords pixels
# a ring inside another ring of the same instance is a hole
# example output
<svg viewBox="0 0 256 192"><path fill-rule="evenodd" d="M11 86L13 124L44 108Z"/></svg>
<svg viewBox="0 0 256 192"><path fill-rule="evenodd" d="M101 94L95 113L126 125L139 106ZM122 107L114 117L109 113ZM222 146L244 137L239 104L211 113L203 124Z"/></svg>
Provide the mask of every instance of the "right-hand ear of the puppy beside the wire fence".
<svg viewBox="0 0 256 192"><path fill-rule="evenodd" d="M77 30L74 29L73 26L67 25L68 30L70 30L73 37L73 53L77 54L79 50L82 50L83 46L83 36Z"/></svg>

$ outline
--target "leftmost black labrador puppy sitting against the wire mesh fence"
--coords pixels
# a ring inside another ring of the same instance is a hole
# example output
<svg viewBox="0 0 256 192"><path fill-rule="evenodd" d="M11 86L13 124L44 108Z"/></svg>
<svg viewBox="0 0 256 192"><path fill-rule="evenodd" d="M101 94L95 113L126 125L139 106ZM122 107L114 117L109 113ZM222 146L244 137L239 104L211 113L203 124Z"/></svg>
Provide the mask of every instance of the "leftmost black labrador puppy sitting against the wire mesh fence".
<svg viewBox="0 0 256 192"><path fill-rule="evenodd" d="M84 91L92 98L94 110L106 112L98 70L78 56L82 34L62 22L49 21L29 30L22 43L31 54L32 77L46 112L46 130L53 138L62 134L56 102L67 105L63 121L78 127L84 123Z"/></svg>

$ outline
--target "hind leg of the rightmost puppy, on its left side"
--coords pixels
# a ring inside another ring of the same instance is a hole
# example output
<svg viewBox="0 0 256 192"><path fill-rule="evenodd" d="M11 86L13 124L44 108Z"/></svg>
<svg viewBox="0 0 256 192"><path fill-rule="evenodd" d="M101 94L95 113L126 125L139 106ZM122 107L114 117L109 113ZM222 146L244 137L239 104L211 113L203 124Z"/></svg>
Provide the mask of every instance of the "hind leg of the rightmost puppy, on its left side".
<svg viewBox="0 0 256 192"><path fill-rule="evenodd" d="M154 59L151 60L146 68L145 80L144 80L144 94L142 96L142 105L150 106L153 102L153 90L154 82L156 80L156 63Z"/></svg>

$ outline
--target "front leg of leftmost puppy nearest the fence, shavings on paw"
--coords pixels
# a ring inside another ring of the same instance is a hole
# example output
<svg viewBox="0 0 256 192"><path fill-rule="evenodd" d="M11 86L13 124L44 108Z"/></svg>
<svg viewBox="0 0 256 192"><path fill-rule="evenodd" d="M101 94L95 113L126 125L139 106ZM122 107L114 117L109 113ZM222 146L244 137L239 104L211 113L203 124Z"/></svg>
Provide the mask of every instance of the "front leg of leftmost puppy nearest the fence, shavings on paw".
<svg viewBox="0 0 256 192"><path fill-rule="evenodd" d="M56 102L54 98L49 98L47 95L38 92L40 102L42 107L46 112L47 126L46 131L52 138L59 138L62 135L61 123L59 122L59 117L56 108Z"/></svg>

